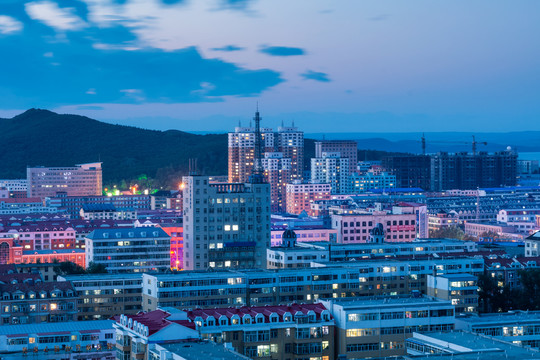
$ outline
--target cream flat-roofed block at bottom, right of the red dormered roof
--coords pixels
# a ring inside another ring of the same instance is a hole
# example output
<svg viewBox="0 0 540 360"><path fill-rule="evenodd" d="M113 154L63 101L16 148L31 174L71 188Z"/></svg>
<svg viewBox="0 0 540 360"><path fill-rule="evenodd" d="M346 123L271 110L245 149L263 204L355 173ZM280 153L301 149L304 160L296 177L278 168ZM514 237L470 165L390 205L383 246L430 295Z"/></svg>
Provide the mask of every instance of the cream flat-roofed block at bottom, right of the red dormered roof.
<svg viewBox="0 0 540 360"><path fill-rule="evenodd" d="M405 355L405 341L417 332L454 329L454 306L422 296L320 300L336 321L338 357Z"/></svg>

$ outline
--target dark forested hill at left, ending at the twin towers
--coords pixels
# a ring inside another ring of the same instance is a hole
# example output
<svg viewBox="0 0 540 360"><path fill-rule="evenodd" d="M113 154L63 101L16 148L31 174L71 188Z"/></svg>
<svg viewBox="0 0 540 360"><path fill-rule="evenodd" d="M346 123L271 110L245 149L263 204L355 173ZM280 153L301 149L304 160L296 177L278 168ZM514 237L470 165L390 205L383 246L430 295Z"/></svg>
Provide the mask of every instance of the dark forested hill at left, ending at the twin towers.
<svg viewBox="0 0 540 360"><path fill-rule="evenodd" d="M98 160L105 184L145 174L166 186L178 174L187 174L190 158L198 159L203 174L227 173L225 134L144 130L39 109L0 119L0 129L0 178L25 178L27 166Z"/></svg>

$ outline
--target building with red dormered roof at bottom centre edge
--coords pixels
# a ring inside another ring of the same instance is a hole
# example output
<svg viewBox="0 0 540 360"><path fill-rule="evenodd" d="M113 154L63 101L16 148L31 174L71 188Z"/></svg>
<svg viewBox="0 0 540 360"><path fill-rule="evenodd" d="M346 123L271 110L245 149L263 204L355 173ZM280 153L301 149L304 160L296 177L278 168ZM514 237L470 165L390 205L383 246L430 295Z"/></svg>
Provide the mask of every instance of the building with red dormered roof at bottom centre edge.
<svg viewBox="0 0 540 360"><path fill-rule="evenodd" d="M186 312L203 339L249 358L334 358L334 320L321 304L243 306Z"/></svg>

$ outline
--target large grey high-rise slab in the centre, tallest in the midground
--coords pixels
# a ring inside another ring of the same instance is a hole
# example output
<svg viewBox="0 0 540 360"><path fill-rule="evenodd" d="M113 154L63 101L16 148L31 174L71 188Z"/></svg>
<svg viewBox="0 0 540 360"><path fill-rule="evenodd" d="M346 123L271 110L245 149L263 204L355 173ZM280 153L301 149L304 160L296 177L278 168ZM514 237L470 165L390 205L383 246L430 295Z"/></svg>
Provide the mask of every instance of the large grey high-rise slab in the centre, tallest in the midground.
<svg viewBox="0 0 540 360"><path fill-rule="evenodd" d="M270 185L184 177L184 269L266 267Z"/></svg>

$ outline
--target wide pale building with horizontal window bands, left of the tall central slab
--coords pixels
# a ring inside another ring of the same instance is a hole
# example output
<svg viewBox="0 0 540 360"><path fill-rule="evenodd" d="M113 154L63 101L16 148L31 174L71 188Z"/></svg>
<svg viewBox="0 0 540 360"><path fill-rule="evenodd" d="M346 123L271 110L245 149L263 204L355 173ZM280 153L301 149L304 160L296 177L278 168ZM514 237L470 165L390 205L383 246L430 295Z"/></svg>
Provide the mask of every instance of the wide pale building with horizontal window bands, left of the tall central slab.
<svg viewBox="0 0 540 360"><path fill-rule="evenodd" d="M111 273L165 271L171 238L161 228L96 229L86 237L86 263Z"/></svg>

